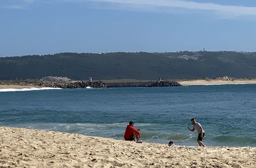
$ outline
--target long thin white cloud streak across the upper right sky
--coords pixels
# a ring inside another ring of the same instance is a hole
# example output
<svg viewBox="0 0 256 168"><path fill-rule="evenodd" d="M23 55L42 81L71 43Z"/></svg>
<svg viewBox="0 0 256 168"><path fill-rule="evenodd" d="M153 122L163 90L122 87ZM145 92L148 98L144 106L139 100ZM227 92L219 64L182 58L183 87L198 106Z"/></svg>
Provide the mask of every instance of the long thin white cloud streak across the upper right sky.
<svg viewBox="0 0 256 168"><path fill-rule="evenodd" d="M100 2L129 5L130 7L141 9L141 6L148 6L156 8L180 8L197 11L210 11L215 12L226 17L256 15L256 7L244 7L244 6L229 6L219 5L214 3L198 3L193 1L181 1L181 0L62 0L66 2ZM153 10L153 8L151 8ZM165 9L166 10L166 9Z"/></svg>

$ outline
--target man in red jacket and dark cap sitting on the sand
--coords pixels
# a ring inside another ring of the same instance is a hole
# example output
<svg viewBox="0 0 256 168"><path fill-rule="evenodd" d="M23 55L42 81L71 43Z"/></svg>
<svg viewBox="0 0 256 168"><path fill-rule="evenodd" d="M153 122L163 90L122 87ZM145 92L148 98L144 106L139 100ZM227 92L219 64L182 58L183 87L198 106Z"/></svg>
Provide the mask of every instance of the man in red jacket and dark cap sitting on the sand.
<svg viewBox="0 0 256 168"><path fill-rule="evenodd" d="M140 141L140 129L135 129L134 122L130 121L129 125L127 125L125 132L124 132L124 139L125 141L135 141L135 137L137 139L137 142L142 142Z"/></svg>

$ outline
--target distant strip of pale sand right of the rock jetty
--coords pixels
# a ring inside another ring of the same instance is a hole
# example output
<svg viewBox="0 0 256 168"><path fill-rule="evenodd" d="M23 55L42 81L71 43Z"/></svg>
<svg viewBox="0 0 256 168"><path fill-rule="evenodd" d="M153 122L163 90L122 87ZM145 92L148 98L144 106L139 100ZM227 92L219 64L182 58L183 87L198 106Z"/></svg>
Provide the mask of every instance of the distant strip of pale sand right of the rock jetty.
<svg viewBox="0 0 256 168"><path fill-rule="evenodd" d="M177 80L181 85L237 85L256 84L256 80Z"/></svg>

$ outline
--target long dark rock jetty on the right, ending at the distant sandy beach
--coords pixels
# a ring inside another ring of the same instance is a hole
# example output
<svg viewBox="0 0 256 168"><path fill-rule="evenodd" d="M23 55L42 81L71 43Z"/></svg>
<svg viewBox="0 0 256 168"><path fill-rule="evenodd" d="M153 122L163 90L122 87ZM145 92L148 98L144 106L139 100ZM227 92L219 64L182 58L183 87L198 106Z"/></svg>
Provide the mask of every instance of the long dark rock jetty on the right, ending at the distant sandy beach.
<svg viewBox="0 0 256 168"><path fill-rule="evenodd" d="M115 87L177 87L182 86L177 81L141 81L141 82L109 82L105 83L109 88Z"/></svg>

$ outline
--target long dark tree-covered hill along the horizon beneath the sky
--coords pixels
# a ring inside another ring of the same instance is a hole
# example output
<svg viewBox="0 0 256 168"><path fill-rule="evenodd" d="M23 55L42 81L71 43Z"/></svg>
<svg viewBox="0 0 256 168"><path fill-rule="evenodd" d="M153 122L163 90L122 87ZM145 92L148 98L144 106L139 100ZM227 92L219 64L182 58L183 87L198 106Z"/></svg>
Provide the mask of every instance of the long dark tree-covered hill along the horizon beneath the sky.
<svg viewBox="0 0 256 168"><path fill-rule="evenodd" d="M0 79L178 79L256 77L256 53L241 52L114 52L58 53L0 58Z"/></svg>

